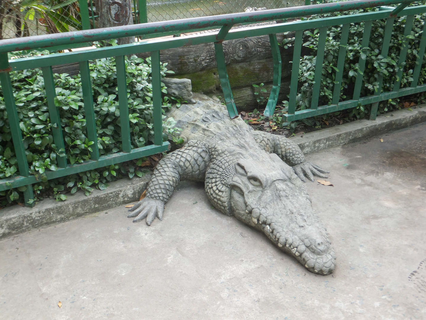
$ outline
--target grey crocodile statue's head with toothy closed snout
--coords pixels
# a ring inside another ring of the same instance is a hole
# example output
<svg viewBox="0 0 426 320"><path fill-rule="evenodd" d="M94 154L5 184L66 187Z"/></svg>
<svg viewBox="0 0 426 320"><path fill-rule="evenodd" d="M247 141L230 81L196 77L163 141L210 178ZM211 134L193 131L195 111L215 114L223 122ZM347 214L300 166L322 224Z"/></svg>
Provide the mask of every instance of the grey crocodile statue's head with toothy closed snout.
<svg viewBox="0 0 426 320"><path fill-rule="evenodd" d="M276 154L235 163L230 186L233 215L261 230L309 271L327 275L336 266L331 242L293 169Z"/></svg>

